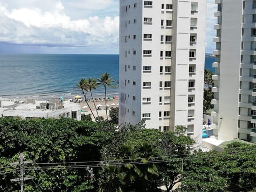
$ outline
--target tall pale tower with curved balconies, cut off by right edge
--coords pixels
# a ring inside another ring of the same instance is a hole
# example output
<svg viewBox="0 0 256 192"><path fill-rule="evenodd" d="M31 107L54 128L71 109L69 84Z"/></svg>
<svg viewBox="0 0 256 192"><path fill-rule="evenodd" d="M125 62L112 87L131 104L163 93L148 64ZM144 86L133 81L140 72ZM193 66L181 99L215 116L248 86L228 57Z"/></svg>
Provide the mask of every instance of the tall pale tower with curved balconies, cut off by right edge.
<svg viewBox="0 0 256 192"><path fill-rule="evenodd" d="M215 134L256 142L256 1L215 0Z"/></svg>

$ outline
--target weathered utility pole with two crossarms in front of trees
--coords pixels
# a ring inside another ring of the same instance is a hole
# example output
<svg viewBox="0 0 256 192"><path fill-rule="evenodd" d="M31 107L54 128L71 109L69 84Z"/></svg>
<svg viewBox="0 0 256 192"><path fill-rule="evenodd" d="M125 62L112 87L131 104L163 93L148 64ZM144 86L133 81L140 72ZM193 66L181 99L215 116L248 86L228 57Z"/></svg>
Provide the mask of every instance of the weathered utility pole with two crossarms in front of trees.
<svg viewBox="0 0 256 192"><path fill-rule="evenodd" d="M20 166L20 178L17 179L11 179L11 182L17 182L20 181L20 191L23 192L24 189L24 181L29 180L29 179L33 179L33 177L24 177L24 165L25 164L32 164L33 161L24 161L25 158L23 156L23 154L19 154L19 158L20 158L20 162L14 162L14 163L10 163L10 165L19 165Z"/></svg>

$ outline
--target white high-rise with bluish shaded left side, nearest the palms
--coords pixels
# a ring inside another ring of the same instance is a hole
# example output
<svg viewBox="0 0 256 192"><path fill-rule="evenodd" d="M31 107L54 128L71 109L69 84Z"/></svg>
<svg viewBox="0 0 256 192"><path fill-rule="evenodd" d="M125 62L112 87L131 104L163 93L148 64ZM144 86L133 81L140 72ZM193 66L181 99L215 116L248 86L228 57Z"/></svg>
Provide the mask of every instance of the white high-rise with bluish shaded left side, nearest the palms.
<svg viewBox="0 0 256 192"><path fill-rule="evenodd" d="M119 124L202 138L205 0L121 0Z"/></svg>

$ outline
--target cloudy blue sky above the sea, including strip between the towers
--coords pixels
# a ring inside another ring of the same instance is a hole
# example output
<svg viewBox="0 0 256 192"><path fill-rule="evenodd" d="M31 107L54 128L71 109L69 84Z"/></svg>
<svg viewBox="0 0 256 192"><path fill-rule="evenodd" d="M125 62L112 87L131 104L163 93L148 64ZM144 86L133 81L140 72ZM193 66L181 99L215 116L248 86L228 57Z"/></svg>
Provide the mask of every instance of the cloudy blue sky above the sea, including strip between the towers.
<svg viewBox="0 0 256 192"><path fill-rule="evenodd" d="M207 1L212 53L214 0ZM118 54L119 0L0 0L0 53Z"/></svg>

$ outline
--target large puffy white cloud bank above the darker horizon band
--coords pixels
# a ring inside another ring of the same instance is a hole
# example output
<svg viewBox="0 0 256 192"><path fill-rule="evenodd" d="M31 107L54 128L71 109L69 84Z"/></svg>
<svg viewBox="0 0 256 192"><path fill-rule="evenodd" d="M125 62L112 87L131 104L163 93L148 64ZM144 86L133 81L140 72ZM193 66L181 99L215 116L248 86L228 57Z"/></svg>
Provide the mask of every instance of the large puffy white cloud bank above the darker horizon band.
<svg viewBox="0 0 256 192"><path fill-rule="evenodd" d="M111 47L118 44L119 17L71 20L60 1L54 9L7 10L0 4L0 41L23 44ZM118 46L113 50L118 52Z"/></svg>

